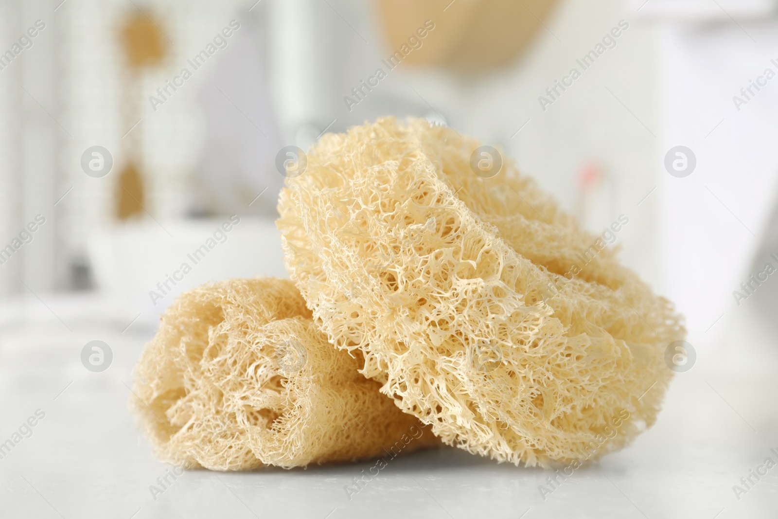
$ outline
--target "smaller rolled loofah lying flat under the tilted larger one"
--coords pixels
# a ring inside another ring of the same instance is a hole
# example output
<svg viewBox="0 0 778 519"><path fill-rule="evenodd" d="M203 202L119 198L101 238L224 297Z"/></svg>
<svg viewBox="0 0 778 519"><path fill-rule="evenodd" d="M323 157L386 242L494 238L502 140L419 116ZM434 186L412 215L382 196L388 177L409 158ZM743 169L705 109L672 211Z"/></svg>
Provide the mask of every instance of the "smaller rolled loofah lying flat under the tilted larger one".
<svg viewBox="0 0 778 519"><path fill-rule="evenodd" d="M130 405L157 456L186 468L291 468L437 444L358 373L361 357L328 344L289 280L232 279L166 310Z"/></svg>

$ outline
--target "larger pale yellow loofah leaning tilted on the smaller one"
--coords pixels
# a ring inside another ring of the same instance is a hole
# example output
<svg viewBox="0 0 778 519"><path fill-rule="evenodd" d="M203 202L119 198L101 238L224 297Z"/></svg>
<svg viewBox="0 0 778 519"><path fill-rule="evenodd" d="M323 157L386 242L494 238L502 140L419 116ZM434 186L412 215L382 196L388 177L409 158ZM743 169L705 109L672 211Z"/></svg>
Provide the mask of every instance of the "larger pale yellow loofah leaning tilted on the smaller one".
<svg viewBox="0 0 778 519"><path fill-rule="evenodd" d="M622 447L654 423L681 317L510 161L476 175L477 147L415 119L324 135L279 201L291 277L445 443L517 465Z"/></svg>

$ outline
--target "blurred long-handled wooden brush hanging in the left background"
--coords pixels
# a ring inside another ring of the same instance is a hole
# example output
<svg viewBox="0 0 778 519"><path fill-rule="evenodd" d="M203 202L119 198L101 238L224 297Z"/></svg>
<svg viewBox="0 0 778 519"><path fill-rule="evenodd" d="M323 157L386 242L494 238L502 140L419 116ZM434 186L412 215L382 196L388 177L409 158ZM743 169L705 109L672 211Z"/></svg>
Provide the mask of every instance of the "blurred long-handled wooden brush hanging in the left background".
<svg viewBox="0 0 778 519"><path fill-rule="evenodd" d="M117 179L114 213L120 220L145 212L144 178L141 167L141 128L134 128L140 121L140 75L144 68L157 66L166 56L163 33L153 19L139 9L128 15L121 23L119 39L126 58L124 75L124 127L132 128L122 139L126 157L124 167Z"/></svg>

